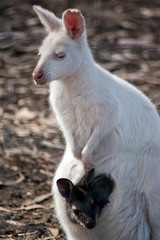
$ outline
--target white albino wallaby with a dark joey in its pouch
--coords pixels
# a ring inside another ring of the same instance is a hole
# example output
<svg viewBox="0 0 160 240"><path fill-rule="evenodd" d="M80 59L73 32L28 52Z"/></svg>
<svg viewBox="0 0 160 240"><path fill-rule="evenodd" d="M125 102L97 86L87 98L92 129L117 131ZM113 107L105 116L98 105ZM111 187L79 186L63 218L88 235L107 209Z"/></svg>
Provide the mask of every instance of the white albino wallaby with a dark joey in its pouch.
<svg viewBox="0 0 160 240"><path fill-rule="evenodd" d="M160 240L160 119L139 90L97 65L80 11L62 20L34 7L48 36L33 78L50 83L50 104L66 140L53 181L56 213L68 240ZM79 161L80 159L81 161ZM109 172L116 187L95 228L72 223L57 188L74 184L93 165Z"/></svg>

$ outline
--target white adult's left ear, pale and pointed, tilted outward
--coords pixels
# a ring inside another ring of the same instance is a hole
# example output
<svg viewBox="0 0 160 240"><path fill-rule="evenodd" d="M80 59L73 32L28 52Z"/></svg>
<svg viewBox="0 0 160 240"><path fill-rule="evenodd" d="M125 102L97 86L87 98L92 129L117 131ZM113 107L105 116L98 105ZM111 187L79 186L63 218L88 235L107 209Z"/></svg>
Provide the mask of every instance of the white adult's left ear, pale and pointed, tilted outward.
<svg viewBox="0 0 160 240"><path fill-rule="evenodd" d="M62 26L61 19L57 18L54 13L35 5L33 9L48 32L59 29Z"/></svg>

